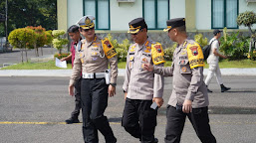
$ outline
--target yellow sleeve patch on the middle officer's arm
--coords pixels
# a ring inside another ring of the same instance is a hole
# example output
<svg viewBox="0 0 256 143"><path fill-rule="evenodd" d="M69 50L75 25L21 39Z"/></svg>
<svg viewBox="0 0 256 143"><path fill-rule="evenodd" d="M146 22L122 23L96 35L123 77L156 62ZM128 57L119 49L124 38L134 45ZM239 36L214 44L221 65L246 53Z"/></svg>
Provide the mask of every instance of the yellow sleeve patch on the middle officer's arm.
<svg viewBox="0 0 256 143"><path fill-rule="evenodd" d="M164 53L161 47L161 44L156 43L151 45L151 54L152 54L152 62L154 65L159 65L165 63L164 61Z"/></svg>

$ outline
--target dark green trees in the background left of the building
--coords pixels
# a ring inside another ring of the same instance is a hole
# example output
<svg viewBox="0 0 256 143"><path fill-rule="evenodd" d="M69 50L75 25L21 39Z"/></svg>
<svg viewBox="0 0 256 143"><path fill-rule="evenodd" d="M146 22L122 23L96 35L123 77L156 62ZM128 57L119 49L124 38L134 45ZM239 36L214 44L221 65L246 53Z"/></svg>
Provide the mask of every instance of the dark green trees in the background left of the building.
<svg viewBox="0 0 256 143"><path fill-rule="evenodd" d="M5 0L0 2L0 13L5 14ZM57 0L8 0L8 32L40 25L57 29Z"/></svg>

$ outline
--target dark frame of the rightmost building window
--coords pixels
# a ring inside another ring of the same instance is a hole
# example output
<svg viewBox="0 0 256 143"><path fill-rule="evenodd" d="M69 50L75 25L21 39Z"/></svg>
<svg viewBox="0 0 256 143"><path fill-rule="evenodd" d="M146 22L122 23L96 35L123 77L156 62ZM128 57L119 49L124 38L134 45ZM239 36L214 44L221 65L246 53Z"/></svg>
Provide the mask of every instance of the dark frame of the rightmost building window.
<svg viewBox="0 0 256 143"><path fill-rule="evenodd" d="M226 6L227 6L227 1L226 0L223 0L223 6L224 6L224 26L223 27L213 27L213 1L214 0L211 0L211 29L223 29L223 28L227 28L227 29L239 29L239 26L237 25L236 27L233 27L233 28L229 28L229 27L227 27L227 19L226 19L226 17L227 17L227 14L226 14L226 10L227 10L227 8L226 8ZM236 0L237 1L237 16L238 16L238 14L239 14L239 0Z"/></svg>

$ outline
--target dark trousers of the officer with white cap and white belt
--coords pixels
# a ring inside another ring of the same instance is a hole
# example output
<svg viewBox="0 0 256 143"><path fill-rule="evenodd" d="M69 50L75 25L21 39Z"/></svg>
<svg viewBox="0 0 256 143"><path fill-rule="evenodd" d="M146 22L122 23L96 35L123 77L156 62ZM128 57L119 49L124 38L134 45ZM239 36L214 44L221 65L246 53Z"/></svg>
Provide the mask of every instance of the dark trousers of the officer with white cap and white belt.
<svg viewBox="0 0 256 143"><path fill-rule="evenodd" d="M105 78L83 78L81 87L85 143L99 143L98 130L104 135L106 143L116 143L109 120L104 115L109 96Z"/></svg>

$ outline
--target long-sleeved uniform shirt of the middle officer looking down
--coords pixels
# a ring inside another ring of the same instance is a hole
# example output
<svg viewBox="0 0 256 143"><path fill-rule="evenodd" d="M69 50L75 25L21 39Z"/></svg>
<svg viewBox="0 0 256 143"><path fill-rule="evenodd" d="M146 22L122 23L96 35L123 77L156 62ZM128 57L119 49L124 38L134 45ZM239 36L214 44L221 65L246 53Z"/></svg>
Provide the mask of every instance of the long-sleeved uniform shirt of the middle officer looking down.
<svg viewBox="0 0 256 143"><path fill-rule="evenodd" d="M153 51L153 52L152 52ZM127 67L123 88L130 99L150 100L162 97L164 78L151 71L142 70L143 64L157 64L163 67L163 51L161 45L149 38L141 46L132 44L128 49Z"/></svg>

